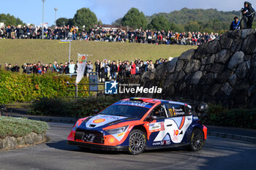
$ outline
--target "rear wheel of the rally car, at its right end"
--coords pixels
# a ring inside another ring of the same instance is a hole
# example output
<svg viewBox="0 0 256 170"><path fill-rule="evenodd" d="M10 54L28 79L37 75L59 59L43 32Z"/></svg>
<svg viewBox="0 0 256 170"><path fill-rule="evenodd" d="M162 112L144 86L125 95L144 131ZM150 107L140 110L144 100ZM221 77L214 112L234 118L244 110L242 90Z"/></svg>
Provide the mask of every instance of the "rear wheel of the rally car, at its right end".
<svg viewBox="0 0 256 170"><path fill-rule="evenodd" d="M191 135L191 141L188 146L189 150L197 152L202 149L204 143L203 131L199 128L194 128Z"/></svg>

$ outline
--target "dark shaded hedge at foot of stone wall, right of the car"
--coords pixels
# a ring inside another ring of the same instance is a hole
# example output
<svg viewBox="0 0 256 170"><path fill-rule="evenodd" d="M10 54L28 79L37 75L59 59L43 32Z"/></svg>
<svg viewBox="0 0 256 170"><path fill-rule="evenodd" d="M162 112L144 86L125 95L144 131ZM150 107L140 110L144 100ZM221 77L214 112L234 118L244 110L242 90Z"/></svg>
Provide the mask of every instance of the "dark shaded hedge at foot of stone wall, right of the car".
<svg viewBox="0 0 256 170"><path fill-rule="evenodd" d="M256 109L224 109L220 105L210 105L202 122L206 125L256 129Z"/></svg>

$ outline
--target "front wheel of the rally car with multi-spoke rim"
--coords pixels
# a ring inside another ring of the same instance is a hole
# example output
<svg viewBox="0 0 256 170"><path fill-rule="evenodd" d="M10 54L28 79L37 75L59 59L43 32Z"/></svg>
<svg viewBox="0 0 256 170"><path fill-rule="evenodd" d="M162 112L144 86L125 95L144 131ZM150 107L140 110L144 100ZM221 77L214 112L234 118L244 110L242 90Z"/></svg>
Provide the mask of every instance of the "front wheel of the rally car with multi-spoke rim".
<svg viewBox="0 0 256 170"><path fill-rule="evenodd" d="M132 130L129 134L129 153L138 155L146 149L146 136L139 129Z"/></svg>

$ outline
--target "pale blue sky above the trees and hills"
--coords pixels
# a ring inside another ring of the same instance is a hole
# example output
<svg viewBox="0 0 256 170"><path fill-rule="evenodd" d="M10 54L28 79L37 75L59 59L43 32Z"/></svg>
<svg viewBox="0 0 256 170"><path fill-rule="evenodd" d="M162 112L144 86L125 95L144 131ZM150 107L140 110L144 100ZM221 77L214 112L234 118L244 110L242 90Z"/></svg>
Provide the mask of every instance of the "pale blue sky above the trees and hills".
<svg viewBox="0 0 256 170"><path fill-rule="evenodd" d="M256 6L256 0L250 2ZM37 26L42 23L42 0L0 0L0 4L0 13L10 13L23 20L24 23L34 23ZM243 4L244 1L241 0L46 0L44 16L45 23L51 26L55 22L55 7L58 8L57 18L73 18L78 9L89 7L97 15L98 20L110 24L124 17L132 7L138 8L145 15L153 15L158 12L172 12L184 7L237 11L243 7Z"/></svg>

